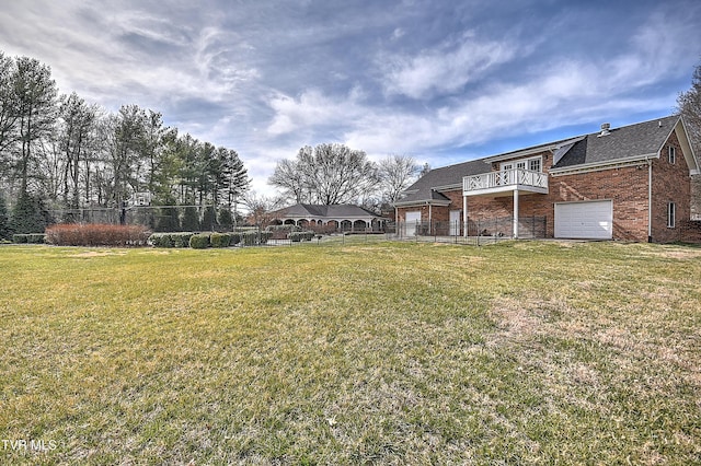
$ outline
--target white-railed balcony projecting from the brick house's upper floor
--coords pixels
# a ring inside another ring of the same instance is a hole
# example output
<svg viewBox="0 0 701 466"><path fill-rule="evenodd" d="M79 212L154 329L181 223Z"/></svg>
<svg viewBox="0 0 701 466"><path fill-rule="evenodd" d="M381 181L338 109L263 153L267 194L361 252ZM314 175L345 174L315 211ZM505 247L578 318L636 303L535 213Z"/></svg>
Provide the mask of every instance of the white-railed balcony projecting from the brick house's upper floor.
<svg viewBox="0 0 701 466"><path fill-rule="evenodd" d="M524 194L548 194L548 174L525 168L510 168L462 178L463 196L498 196L499 194L506 196L515 190Z"/></svg>

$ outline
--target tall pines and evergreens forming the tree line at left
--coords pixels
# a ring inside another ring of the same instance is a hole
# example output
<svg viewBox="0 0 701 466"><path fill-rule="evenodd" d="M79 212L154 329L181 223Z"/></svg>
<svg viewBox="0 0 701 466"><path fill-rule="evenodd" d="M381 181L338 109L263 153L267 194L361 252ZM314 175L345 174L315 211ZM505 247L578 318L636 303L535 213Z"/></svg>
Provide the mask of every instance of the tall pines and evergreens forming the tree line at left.
<svg viewBox="0 0 701 466"><path fill-rule="evenodd" d="M0 51L0 237L83 221L85 209L124 212L139 195L150 206L210 206L216 222L249 185L234 150L179 133L138 105L110 113L59 94L48 66ZM184 220L172 212L151 215L150 226Z"/></svg>

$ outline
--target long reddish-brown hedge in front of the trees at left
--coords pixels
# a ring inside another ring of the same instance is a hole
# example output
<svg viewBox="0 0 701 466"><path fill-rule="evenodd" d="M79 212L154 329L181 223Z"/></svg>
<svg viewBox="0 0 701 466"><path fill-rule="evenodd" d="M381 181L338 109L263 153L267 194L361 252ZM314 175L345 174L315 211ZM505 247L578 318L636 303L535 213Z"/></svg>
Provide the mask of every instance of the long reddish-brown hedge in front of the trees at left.
<svg viewBox="0 0 701 466"><path fill-rule="evenodd" d="M46 229L46 242L57 246L143 246L149 235L141 225L67 223Z"/></svg>

